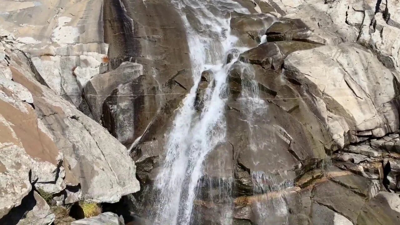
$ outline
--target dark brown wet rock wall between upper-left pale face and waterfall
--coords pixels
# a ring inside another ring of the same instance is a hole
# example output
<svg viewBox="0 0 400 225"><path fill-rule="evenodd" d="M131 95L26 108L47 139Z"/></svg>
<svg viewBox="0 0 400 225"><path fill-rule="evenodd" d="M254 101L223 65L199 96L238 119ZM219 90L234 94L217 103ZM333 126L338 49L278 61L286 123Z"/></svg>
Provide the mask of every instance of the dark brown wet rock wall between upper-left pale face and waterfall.
<svg viewBox="0 0 400 225"><path fill-rule="evenodd" d="M110 67L124 61L142 66L140 75L119 82L100 102L104 127L132 149L163 135L154 131L168 123L193 85L186 31L168 0L105 0L104 20ZM101 83L104 76L92 80ZM87 94L89 108L98 110Z"/></svg>

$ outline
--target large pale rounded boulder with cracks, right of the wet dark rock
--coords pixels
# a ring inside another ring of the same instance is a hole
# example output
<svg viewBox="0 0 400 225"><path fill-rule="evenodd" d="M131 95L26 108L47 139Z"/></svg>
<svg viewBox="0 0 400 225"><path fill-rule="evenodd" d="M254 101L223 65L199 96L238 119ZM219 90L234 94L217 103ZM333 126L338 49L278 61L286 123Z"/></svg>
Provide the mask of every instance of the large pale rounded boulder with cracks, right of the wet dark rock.
<svg viewBox="0 0 400 225"><path fill-rule="evenodd" d="M339 146L397 131L398 74L366 48L343 43L298 51L285 59L284 68L286 79L309 93L302 96L318 102Z"/></svg>

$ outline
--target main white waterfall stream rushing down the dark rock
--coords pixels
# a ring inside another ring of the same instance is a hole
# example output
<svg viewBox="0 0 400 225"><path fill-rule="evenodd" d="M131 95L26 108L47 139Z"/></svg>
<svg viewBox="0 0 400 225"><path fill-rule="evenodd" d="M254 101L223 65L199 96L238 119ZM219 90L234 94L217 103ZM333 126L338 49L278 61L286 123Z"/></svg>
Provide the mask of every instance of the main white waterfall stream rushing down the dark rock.
<svg viewBox="0 0 400 225"><path fill-rule="evenodd" d="M204 159L218 144L226 141L227 75L238 52L246 50L238 48L238 38L230 34L230 12L249 12L233 0L171 2L186 26L194 86L183 100L167 136L166 154L154 187L155 210L149 214L157 224L189 225ZM225 56L233 48L239 51L226 64ZM211 71L213 77L198 113L194 103L203 70ZM231 213L227 211L223 215L224 225L232 224Z"/></svg>

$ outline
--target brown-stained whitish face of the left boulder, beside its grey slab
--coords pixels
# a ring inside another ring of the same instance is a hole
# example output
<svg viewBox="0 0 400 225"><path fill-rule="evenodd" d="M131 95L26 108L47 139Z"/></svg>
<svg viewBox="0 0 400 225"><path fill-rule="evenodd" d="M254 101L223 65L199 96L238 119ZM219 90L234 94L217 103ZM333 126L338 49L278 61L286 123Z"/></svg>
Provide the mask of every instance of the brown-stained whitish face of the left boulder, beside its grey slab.
<svg viewBox="0 0 400 225"><path fill-rule="evenodd" d="M48 129L37 118L34 108L26 101L33 103L27 88L0 78L0 195L4 199L0 218L21 204L32 189L31 183L50 183L50 190L55 192L65 189L65 173L62 177L58 174L58 171L64 171L64 168L60 169L65 165L62 153ZM71 180L74 178L70 177Z"/></svg>

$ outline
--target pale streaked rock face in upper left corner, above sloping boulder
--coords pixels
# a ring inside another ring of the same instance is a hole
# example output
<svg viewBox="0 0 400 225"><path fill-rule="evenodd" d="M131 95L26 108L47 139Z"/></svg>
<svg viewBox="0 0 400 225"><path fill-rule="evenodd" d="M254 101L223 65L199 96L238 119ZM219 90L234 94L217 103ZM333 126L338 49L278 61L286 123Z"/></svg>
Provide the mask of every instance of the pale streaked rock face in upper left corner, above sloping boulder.
<svg viewBox="0 0 400 225"><path fill-rule="evenodd" d="M42 84L79 106L86 82L108 66L102 1L1 4L0 36L14 40L25 52Z"/></svg>

